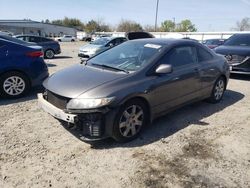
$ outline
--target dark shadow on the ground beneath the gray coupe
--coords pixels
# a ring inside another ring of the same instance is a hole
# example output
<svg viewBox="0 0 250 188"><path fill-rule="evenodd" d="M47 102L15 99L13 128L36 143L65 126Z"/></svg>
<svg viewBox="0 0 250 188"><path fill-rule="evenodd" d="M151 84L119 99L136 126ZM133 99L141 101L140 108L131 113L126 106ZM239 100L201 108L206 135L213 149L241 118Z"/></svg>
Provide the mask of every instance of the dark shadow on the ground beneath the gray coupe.
<svg viewBox="0 0 250 188"><path fill-rule="evenodd" d="M242 100L242 93L227 90L223 100L218 104L210 104L205 101L197 102L174 112L171 112L155 120L150 126L146 127L138 139L128 143L117 143L112 139L106 139L91 143L93 149L111 149L116 147L139 147L148 145L165 139L191 124L196 126L209 126L209 122L204 119L216 112L219 112L238 101Z"/></svg>

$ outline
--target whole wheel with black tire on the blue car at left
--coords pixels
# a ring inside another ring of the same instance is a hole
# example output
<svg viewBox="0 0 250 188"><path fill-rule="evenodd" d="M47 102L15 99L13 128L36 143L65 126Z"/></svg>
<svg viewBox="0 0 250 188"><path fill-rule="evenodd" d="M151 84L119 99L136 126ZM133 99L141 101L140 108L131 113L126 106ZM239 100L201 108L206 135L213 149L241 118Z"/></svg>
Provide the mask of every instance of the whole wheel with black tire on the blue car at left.
<svg viewBox="0 0 250 188"><path fill-rule="evenodd" d="M29 79L20 72L8 72L0 77L0 95L4 98L19 98L29 90Z"/></svg>

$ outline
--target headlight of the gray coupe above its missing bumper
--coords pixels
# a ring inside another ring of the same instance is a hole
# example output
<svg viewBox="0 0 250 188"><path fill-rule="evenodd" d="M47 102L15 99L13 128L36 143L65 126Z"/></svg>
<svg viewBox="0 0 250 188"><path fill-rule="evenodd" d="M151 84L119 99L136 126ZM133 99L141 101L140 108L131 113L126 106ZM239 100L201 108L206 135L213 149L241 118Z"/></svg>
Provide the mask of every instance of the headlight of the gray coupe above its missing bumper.
<svg viewBox="0 0 250 188"><path fill-rule="evenodd" d="M71 99L67 104L67 109L93 109L106 106L113 101L114 97L100 99Z"/></svg>

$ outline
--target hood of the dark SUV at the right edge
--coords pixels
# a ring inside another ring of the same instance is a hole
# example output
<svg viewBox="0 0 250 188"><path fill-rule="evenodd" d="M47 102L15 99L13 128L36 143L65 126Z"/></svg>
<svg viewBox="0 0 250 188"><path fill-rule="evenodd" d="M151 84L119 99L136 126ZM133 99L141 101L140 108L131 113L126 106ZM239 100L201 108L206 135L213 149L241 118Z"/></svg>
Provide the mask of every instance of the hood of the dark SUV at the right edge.
<svg viewBox="0 0 250 188"><path fill-rule="evenodd" d="M216 53L222 55L250 56L249 46L219 46L214 49Z"/></svg>

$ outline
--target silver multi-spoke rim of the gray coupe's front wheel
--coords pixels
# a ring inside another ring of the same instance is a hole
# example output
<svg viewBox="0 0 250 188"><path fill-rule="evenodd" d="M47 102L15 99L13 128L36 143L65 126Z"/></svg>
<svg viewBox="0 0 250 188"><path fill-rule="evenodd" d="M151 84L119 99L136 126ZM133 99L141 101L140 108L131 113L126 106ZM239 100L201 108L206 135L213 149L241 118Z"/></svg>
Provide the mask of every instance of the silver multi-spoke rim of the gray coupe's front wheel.
<svg viewBox="0 0 250 188"><path fill-rule="evenodd" d="M119 130L121 135L124 137L135 136L141 130L143 119L144 113L140 106L129 106L120 118Z"/></svg>

